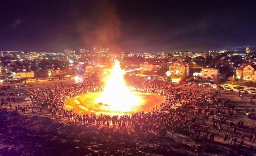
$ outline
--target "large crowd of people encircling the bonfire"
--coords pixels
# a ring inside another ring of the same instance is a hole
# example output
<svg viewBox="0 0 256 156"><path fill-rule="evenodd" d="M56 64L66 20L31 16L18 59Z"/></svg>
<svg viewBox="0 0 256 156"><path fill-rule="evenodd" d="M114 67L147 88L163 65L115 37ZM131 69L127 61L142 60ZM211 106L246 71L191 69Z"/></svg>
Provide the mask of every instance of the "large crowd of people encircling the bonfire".
<svg viewBox="0 0 256 156"><path fill-rule="evenodd" d="M143 93L156 93L166 98L164 103L161 103L159 107L156 105L152 108L151 112L137 112L132 115L122 115L118 117L114 115L96 116L95 114L78 114L73 110L65 108L65 101L69 98L78 96L80 94L87 94L96 91L103 90L103 84L98 80L98 77L92 76L84 78L84 82L80 83L65 83L61 82L61 85L56 88L49 88L43 90L42 98L45 99L43 105L46 105L47 110L53 117L59 116L61 118L68 118L68 120L74 120L79 124L102 124L103 126L117 127L118 129L126 129L133 127L136 131L145 131L148 133L155 133L165 136L167 133L173 134L180 133L186 136L193 137L195 140L207 140L214 141L215 133L214 129L219 132L223 129L223 124L228 124L228 127L233 127L233 132L229 132L224 135L224 142L227 141L227 136L234 142L233 147L236 145L237 128L243 128L243 121L234 125L232 121L229 123L224 118L226 111L230 115L233 114L236 106L230 104L228 98L217 98L216 95L220 94L220 91L199 91L197 88L181 89L175 87L169 81L154 79L148 80L143 77L125 75L127 85L129 85L131 91L139 91ZM41 101L38 96L39 90L28 88L29 99L34 101ZM182 100L186 101L180 111L172 109L176 104L179 104ZM2 103L1 103L2 104ZM41 106L39 107L42 110ZM195 107L191 107L195 106ZM22 109L27 109L29 106L24 106ZM193 109L196 108L196 109ZM34 106L32 108L34 113ZM218 118L217 118L217 117ZM212 118L211 118L212 117ZM212 122L212 127L206 124L206 121ZM255 141L255 132L250 134L249 141ZM201 136L201 137L200 137ZM245 136L242 138L242 145ZM241 144L241 143L240 143ZM242 145L239 144L239 148Z"/></svg>

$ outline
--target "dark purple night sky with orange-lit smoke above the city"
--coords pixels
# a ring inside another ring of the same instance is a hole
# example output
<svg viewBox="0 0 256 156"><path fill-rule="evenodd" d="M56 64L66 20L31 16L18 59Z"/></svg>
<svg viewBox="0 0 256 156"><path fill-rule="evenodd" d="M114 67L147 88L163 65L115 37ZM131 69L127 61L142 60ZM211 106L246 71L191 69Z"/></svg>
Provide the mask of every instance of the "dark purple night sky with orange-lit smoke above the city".
<svg viewBox="0 0 256 156"><path fill-rule="evenodd" d="M0 51L256 50L253 1L6 0Z"/></svg>

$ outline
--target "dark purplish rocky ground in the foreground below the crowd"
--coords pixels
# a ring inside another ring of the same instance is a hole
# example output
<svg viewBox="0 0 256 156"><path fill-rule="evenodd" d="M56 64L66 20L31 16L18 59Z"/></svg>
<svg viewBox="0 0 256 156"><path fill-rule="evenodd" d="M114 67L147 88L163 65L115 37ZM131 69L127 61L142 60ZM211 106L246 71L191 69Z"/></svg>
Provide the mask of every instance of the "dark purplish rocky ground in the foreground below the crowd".
<svg viewBox="0 0 256 156"><path fill-rule="evenodd" d="M186 138L144 132L77 126L47 117L0 109L0 155L232 155L220 143L196 143ZM254 151L255 152L255 151ZM238 155L250 155L247 149Z"/></svg>

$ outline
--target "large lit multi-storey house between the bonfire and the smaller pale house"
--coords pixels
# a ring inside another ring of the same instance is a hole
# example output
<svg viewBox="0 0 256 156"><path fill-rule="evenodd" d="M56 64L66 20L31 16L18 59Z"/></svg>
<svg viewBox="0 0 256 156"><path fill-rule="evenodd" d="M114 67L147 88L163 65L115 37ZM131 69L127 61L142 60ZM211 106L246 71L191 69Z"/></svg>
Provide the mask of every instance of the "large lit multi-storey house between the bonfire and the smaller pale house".
<svg viewBox="0 0 256 156"><path fill-rule="evenodd" d="M172 76L183 77L189 75L189 66L187 62L177 60L169 66Z"/></svg>

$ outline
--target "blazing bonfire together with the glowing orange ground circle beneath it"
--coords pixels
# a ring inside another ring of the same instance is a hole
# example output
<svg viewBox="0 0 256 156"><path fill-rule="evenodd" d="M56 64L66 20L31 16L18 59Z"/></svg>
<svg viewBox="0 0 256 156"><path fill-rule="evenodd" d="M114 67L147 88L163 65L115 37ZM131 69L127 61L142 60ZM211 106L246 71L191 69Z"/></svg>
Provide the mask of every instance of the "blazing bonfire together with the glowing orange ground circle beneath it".
<svg viewBox="0 0 256 156"><path fill-rule="evenodd" d="M104 79L103 92L82 94L66 100L65 107L78 114L131 115L136 112L150 112L156 104L165 102L158 94L130 91L124 80L125 71L115 60L112 74Z"/></svg>

